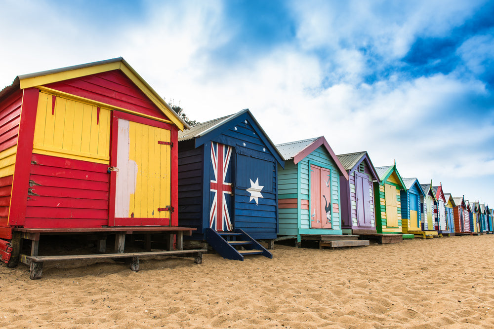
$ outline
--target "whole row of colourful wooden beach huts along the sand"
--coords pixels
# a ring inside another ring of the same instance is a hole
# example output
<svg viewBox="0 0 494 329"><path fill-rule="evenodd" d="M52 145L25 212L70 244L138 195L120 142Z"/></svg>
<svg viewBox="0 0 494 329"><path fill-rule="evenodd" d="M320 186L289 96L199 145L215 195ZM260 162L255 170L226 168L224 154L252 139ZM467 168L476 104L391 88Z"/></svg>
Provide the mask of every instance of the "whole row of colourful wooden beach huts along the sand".
<svg viewBox="0 0 494 329"><path fill-rule="evenodd" d="M139 256L200 263L208 248L243 260L272 257L281 240L493 233L493 217L396 163L374 167L366 151L336 155L324 137L274 145L249 110L189 127L123 58L19 75L0 91L0 257L33 279L52 260L126 258L138 270ZM56 235L92 238L98 253L46 255ZM146 251L125 250L126 236Z"/></svg>

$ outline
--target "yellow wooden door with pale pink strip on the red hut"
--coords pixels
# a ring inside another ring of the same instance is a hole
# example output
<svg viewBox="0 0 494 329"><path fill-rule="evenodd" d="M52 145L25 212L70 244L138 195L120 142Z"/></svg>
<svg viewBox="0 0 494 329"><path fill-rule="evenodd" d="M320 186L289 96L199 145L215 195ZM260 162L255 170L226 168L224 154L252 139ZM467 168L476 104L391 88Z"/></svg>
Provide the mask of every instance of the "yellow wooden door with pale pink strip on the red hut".
<svg viewBox="0 0 494 329"><path fill-rule="evenodd" d="M117 117L112 124L116 152L112 152L109 171L116 173L114 224L169 225L170 131Z"/></svg>

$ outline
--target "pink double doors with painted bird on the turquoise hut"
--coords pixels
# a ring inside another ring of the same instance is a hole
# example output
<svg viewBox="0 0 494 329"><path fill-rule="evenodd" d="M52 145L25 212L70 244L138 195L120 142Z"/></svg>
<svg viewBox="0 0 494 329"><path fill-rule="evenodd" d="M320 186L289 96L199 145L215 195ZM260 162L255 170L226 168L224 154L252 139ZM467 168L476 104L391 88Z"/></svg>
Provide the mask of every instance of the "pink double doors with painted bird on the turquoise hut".
<svg viewBox="0 0 494 329"><path fill-rule="evenodd" d="M310 166L310 227L331 228L331 172Z"/></svg>

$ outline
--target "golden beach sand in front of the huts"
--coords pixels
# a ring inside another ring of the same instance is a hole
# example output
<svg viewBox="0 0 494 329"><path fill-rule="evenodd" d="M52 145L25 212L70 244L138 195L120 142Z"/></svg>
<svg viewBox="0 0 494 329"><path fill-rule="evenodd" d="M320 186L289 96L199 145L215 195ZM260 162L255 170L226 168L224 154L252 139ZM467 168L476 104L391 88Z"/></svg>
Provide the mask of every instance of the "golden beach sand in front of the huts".
<svg viewBox="0 0 494 329"><path fill-rule="evenodd" d="M494 327L494 235L273 255L0 265L0 327Z"/></svg>

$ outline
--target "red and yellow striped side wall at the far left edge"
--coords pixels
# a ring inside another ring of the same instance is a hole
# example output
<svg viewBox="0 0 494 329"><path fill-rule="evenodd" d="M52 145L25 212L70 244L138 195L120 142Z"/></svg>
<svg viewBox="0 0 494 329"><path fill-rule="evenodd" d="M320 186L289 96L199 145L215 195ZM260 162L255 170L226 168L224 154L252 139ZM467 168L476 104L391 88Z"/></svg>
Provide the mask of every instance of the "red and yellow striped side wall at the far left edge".
<svg viewBox="0 0 494 329"><path fill-rule="evenodd" d="M8 224L21 105L21 90L0 101L0 226Z"/></svg>

